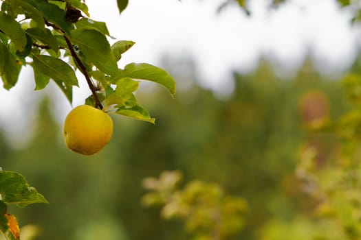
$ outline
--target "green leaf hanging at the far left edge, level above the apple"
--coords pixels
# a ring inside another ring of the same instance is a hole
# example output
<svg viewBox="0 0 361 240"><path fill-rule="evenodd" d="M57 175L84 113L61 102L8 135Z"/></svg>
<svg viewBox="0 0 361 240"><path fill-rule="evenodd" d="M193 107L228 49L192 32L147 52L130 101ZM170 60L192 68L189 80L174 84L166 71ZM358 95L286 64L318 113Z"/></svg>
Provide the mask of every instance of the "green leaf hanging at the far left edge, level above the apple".
<svg viewBox="0 0 361 240"><path fill-rule="evenodd" d="M3 80L3 88L9 90L15 86L15 84L17 84L21 70L21 64L17 62L17 58L13 53L10 52L6 45L1 46L1 51L3 51L3 60L6 61L3 64L1 79Z"/></svg>

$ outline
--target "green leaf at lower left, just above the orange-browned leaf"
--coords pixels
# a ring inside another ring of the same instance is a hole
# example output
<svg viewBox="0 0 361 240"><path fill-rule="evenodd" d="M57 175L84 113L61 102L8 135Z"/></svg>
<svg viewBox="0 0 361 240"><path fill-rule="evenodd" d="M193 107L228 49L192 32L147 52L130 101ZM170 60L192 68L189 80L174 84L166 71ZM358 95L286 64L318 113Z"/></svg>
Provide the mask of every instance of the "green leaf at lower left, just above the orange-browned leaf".
<svg viewBox="0 0 361 240"><path fill-rule="evenodd" d="M19 207L35 203L48 203L36 189L30 187L25 178L14 171L0 171L0 194L6 204Z"/></svg>

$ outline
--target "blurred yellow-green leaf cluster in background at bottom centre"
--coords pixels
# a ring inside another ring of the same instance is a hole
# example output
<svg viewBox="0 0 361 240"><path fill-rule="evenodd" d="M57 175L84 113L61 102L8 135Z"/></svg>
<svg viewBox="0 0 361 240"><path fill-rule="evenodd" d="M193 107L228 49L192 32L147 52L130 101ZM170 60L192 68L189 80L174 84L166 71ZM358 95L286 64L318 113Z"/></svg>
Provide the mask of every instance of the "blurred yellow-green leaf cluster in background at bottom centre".
<svg viewBox="0 0 361 240"><path fill-rule="evenodd" d="M144 206L161 205L164 219L178 217L185 222L192 239L227 239L245 224L248 204L243 197L226 194L219 184L190 181L179 189L179 171L164 171L160 178L145 178L148 189L142 198Z"/></svg>

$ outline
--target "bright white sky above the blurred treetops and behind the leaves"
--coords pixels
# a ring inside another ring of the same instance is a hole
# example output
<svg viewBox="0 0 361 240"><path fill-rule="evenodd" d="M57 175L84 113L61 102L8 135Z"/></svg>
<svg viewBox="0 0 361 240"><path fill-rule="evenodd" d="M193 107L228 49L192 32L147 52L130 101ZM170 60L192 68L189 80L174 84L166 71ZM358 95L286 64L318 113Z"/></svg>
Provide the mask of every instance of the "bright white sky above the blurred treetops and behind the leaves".
<svg viewBox="0 0 361 240"><path fill-rule="evenodd" d="M159 65L164 54L190 56L197 64L200 84L220 92L232 89L231 70L251 71L261 56L287 75L309 53L322 73L332 74L350 67L358 52L357 35L349 25L350 11L341 10L336 0L288 0L277 10L267 10L270 1L252 0L252 16L236 5L216 14L223 0L129 1L121 16L116 0L86 1L91 18L107 22L116 40L136 42L122 57L120 67L129 62ZM89 95L81 75L79 81L74 106L83 104ZM12 125L32 119L34 110L29 106L36 105L32 101L43 92L33 88L32 69L27 67L17 86L10 91L0 89L0 123ZM71 106L63 93L56 90L56 96L54 109L61 123ZM12 136L24 130L24 124L6 128Z"/></svg>

